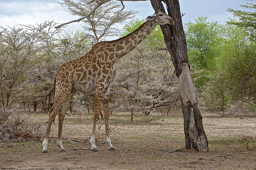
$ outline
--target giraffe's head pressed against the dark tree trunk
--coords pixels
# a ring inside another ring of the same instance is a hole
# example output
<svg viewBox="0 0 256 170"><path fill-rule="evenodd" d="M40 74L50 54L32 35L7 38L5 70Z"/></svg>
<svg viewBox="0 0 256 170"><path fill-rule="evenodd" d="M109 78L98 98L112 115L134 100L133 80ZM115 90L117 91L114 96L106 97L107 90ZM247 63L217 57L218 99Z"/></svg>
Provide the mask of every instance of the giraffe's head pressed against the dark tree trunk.
<svg viewBox="0 0 256 170"><path fill-rule="evenodd" d="M174 21L171 17L169 17L165 12L158 9L158 12L152 16L148 16L146 20L152 21L154 20L157 24L164 25L169 24L174 26Z"/></svg>

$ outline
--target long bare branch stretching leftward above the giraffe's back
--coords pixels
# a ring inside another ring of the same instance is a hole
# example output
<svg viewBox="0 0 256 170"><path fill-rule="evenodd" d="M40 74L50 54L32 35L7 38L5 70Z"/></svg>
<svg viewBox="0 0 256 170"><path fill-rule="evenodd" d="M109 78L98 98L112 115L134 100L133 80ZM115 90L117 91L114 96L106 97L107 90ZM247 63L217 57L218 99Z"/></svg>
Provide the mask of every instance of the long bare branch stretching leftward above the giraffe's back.
<svg viewBox="0 0 256 170"><path fill-rule="evenodd" d="M74 22L79 22L79 21L81 21L81 20L83 20L85 18L89 18L91 16L91 14L93 14L98 7L100 7L102 4L104 4L104 3L108 2L108 1L111 1L111 0L92 0L89 3L87 3L87 4L90 4L90 3L94 2L94 1L96 1L97 5L93 8L91 13L89 13L87 16L79 18L77 20L69 21L68 23L60 24L59 26L54 27L54 28L60 28L60 27L62 27L64 25L67 25L67 24L70 24L70 23L74 23ZM124 9L123 1L147 1L147 0L116 0L116 1L120 1L122 3L122 6L123 6L122 10L123 10Z"/></svg>

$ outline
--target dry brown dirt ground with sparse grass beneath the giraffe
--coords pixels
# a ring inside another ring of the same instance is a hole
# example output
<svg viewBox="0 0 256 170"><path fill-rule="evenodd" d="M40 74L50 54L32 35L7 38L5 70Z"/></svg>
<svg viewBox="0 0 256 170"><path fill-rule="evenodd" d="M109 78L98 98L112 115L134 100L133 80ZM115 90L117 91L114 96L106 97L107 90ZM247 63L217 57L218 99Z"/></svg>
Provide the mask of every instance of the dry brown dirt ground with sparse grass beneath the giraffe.
<svg viewBox="0 0 256 170"><path fill-rule="evenodd" d="M47 114L33 114L42 122ZM91 132L91 116L67 115L63 135L86 137ZM111 116L115 151L106 143L96 143L99 152L91 152L87 142L63 140L67 152L59 152L56 140L50 139L49 153L42 153L41 140L0 143L0 169L255 169L256 117L204 117L209 152L185 150L183 118L158 117L130 123L126 115ZM99 119L98 124L104 121ZM57 134L58 119L52 126ZM102 126L104 127L104 125ZM246 149L239 143L243 135L253 137ZM174 149L181 151L172 152Z"/></svg>

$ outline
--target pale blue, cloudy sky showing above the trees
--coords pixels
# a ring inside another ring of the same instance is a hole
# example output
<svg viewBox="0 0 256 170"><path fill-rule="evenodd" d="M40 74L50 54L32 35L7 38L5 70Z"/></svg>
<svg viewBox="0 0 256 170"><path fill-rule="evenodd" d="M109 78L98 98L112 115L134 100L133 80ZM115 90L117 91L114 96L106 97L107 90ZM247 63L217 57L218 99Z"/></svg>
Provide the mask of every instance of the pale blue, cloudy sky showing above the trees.
<svg viewBox="0 0 256 170"><path fill-rule="evenodd" d="M69 14L58 3L59 0L0 0L0 26L13 27L18 24L35 25L45 21L65 23L78 17ZM183 23L194 21L198 16L207 16L209 21L225 24L232 14L227 8L242 9L239 7L248 0L180 0ZM126 2L125 8L138 11L135 18L146 18L154 14L150 1ZM80 23L69 24L65 29L76 31L82 29Z"/></svg>

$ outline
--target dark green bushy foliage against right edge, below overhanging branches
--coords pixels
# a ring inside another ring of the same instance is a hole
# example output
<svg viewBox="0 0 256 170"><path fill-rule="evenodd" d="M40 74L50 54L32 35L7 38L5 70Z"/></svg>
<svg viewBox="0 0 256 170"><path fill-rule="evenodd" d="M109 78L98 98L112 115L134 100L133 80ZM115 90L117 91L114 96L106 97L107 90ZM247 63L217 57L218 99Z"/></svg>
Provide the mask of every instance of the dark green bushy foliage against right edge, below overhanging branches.
<svg viewBox="0 0 256 170"><path fill-rule="evenodd" d="M256 46L247 45L229 56L229 62L223 63L227 70L230 94L233 100L239 100L256 108Z"/></svg>

